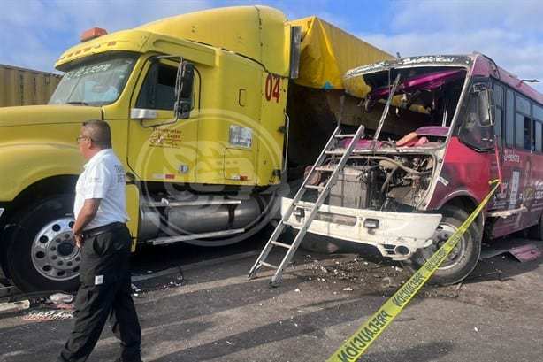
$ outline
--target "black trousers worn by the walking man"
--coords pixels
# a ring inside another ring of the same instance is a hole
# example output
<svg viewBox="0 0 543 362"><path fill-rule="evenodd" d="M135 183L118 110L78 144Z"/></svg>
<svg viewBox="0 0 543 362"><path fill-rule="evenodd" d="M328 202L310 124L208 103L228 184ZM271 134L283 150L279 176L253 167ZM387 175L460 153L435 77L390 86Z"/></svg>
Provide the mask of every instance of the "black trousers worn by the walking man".
<svg viewBox="0 0 543 362"><path fill-rule="evenodd" d="M119 361L141 361L141 327L130 288L130 234L126 226L86 237L72 334L57 361L85 361L105 322L120 340Z"/></svg>

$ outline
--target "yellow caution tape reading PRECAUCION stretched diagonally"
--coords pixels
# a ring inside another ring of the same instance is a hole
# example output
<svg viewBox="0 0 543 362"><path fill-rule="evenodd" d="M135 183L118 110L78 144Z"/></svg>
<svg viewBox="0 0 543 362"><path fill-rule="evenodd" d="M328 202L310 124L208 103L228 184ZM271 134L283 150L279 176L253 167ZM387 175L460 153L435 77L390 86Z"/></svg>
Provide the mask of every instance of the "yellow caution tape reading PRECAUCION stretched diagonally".
<svg viewBox="0 0 543 362"><path fill-rule="evenodd" d="M403 307L409 303L409 300L417 294L418 289L421 289L424 283L430 279L432 273L440 266L448 253L455 248L456 243L462 238L463 233L470 227L470 224L475 220L478 213L485 207L486 203L493 195L493 192L500 185L498 180L491 181L490 183L496 183L496 185L488 195L486 195L481 204L471 212L468 219L466 219L463 224L456 229L455 233L447 239L447 242L441 245L440 249L424 263L424 266L418 269L417 273L414 273L413 276L409 278L409 281L406 281L405 284L402 285L402 288L398 289L398 291L394 293L394 296L390 297L379 311L371 316L370 320L367 320L363 326L333 354L332 357L327 359L327 362L356 361L356 359L362 356L363 352L370 344L377 339L386 326L388 326L388 324L402 311Z"/></svg>

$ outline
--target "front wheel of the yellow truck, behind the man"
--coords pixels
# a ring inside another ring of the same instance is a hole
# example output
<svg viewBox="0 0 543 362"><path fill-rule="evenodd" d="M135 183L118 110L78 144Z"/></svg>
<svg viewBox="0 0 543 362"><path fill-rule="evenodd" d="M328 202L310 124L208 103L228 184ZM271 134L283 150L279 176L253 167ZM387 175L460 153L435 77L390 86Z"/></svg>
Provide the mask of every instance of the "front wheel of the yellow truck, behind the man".
<svg viewBox="0 0 543 362"><path fill-rule="evenodd" d="M80 250L72 233L72 207L73 196L49 196L11 220L7 270L21 291L78 288Z"/></svg>

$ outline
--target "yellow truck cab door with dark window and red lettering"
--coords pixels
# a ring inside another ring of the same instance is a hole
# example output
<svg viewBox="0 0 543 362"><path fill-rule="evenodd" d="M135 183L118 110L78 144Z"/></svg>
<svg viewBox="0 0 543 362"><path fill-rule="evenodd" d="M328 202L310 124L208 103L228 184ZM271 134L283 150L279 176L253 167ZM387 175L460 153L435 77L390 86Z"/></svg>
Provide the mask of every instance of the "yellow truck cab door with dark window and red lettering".
<svg viewBox="0 0 543 362"><path fill-rule="evenodd" d="M141 181L193 182L198 100L195 97L189 119L174 119L177 64L161 60L144 70L130 110L128 165ZM198 81L193 84L199 88Z"/></svg>

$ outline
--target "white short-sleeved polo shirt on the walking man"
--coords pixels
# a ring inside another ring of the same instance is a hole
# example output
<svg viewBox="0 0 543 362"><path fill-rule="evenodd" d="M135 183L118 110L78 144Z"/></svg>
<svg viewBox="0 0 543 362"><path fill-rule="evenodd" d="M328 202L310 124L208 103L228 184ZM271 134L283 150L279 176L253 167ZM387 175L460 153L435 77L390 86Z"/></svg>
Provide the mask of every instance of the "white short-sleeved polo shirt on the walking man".
<svg viewBox="0 0 543 362"><path fill-rule="evenodd" d="M77 219L85 200L100 198L100 207L86 230L103 227L112 222L128 221L126 213L125 168L113 150L100 150L85 164L75 185L73 214Z"/></svg>

